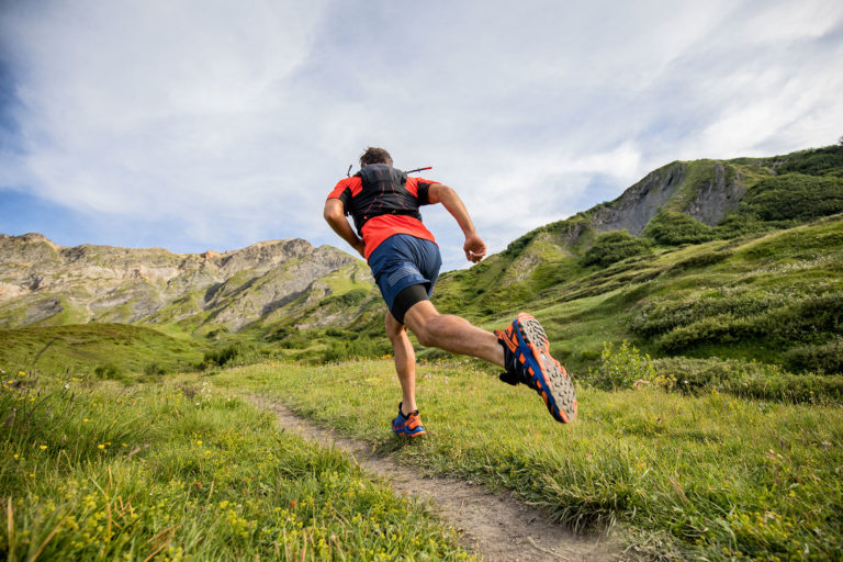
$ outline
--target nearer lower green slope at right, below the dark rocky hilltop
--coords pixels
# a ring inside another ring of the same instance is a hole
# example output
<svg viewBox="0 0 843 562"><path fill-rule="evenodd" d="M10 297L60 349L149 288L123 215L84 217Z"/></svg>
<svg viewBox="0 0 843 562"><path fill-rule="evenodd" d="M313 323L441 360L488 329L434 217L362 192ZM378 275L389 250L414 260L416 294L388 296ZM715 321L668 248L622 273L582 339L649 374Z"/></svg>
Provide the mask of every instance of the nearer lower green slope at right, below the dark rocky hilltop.
<svg viewBox="0 0 843 562"><path fill-rule="evenodd" d="M541 236L525 244L525 256ZM755 360L796 374L843 371L841 215L730 240L655 247L607 267L557 256L518 284L484 289L503 259L443 276L434 303L490 329L527 310L574 372L596 366L604 341L625 339L654 358Z"/></svg>

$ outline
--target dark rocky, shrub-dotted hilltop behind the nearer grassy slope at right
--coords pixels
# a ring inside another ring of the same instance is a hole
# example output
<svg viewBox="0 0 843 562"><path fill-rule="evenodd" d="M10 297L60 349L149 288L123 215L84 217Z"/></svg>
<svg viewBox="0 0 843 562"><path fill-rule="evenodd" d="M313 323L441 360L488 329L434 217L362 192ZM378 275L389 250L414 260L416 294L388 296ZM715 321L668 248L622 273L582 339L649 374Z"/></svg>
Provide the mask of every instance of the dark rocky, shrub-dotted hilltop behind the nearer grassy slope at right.
<svg viewBox="0 0 843 562"><path fill-rule="evenodd" d="M557 283L562 274L557 266L582 258L606 233L626 231L644 244L663 244L660 233L668 232L676 245L794 226L841 211L843 146L769 158L675 161L614 201L525 234L472 270L488 278L491 289L531 281L533 290ZM484 284L475 280L471 286ZM494 290L481 294L486 301L502 296Z"/></svg>

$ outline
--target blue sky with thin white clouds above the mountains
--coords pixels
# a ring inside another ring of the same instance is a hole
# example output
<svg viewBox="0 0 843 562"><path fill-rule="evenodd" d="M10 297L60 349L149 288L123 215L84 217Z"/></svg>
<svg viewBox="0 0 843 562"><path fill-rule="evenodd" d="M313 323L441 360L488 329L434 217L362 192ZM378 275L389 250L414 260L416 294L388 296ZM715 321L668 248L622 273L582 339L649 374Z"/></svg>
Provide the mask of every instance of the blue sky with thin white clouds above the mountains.
<svg viewBox="0 0 843 562"><path fill-rule="evenodd" d="M352 251L324 201L381 146L497 252L671 161L841 135L839 0L0 0L0 233L63 246Z"/></svg>

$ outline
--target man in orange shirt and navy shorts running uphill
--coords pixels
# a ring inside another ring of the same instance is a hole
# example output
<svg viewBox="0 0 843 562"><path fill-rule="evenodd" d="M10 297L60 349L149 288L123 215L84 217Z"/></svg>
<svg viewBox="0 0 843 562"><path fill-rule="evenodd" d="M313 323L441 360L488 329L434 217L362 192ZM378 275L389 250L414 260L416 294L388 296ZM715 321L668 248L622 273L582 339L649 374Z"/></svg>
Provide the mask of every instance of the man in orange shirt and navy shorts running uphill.
<svg viewBox="0 0 843 562"><path fill-rule="evenodd" d="M422 223L419 206L445 205L465 235L465 258L476 263L486 255L486 245L457 192L393 168L392 157L383 148L367 148L360 167L330 192L324 216L366 258L389 307L386 335L403 394L392 430L409 437L425 434L416 405L416 356L407 328L423 346L503 367L502 381L527 384L544 400L554 419L573 422L574 386L565 369L550 356L544 329L536 318L519 313L506 329L493 334L459 316L439 314L429 301L442 260L434 235ZM353 218L357 233L346 215Z"/></svg>

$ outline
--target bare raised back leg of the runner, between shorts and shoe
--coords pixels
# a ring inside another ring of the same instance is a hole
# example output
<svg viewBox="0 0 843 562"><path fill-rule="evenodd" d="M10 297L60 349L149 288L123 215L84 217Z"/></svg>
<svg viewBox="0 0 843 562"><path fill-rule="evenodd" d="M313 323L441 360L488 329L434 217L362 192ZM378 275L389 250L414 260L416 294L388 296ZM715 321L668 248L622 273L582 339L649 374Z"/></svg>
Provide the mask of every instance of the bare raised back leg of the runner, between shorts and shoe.
<svg viewBox="0 0 843 562"><path fill-rule="evenodd" d="M425 347L477 357L504 367L504 348L497 336L459 316L439 314L430 301L414 304L404 315L404 324ZM397 366L397 352L395 360Z"/></svg>

